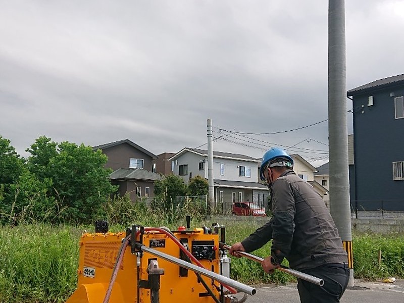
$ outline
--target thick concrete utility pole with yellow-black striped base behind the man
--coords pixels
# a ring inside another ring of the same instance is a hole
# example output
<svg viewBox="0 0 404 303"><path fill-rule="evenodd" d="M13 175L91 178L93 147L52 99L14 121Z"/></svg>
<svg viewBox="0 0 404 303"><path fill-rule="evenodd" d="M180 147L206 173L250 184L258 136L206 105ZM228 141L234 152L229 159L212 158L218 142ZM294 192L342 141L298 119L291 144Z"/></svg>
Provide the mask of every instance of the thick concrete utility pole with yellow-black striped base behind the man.
<svg viewBox="0 0 404 303"><path fill-rule="evenodd" d="M348 253L354 286L352 231L349 206L348 130L346 111L345 1L328 2L328 140L330 213Z"/></svg>

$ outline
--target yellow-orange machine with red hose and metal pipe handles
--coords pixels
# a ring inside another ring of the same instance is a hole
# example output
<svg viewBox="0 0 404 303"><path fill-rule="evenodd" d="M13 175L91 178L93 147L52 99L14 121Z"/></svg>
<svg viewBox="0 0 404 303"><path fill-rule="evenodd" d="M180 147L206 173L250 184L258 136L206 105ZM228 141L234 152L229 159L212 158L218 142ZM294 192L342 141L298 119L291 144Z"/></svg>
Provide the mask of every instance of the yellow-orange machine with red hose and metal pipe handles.
<svg viewBox="0 0 404 303"><path fill-rule="evenodd" d="M186 221L175 231L132 225L118 233L97 221L95 233L80 238L78 286L67 303L241 303L254 295L255 288L229 278L225 227L191 229Z"/></svg>

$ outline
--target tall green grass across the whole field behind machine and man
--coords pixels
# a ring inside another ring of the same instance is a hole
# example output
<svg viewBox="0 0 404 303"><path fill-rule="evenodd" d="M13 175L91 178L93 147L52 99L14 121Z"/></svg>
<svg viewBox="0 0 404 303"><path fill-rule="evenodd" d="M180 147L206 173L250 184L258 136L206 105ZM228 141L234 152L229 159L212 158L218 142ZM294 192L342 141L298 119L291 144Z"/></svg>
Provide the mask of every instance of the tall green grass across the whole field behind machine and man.
<svg viewBox="0 0 404 303"><path fill-rule="evenodd" d="M191 221L191 227L211 226L212 220ZM185 225L185 218L168 222L160 215L138 218L145 226L168 226L175 230ZM231 219L218 222L226 227L226 242L241 241L262 223ZM110 231L124 231L114 224ZM80 228L44 224L0 227L0 302L64 302L76 288L78 241L82 230L94 232L93 226ZM404 235L354 234L354 272L358 278L404 277ZM382 251L379 265L379 250ZM270 243L254 251L262 258L270 254ZM284 261L284 265L287 262ZM295 278L280 271L265 274L261 265L246 258L232 258L231 277L246 284L285 283ZM129 281L135 283L135 281ZM134 284L133 284L134 285Z"/></svg>

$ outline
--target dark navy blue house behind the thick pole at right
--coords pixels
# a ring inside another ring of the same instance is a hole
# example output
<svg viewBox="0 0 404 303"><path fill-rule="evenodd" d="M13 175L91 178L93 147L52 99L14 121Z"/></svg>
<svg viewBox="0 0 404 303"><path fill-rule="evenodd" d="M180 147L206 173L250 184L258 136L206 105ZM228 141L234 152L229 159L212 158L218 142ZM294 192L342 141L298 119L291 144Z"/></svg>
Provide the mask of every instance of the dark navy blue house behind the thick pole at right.
<svg viewBox="0 0 404 303"><path fill-rule="evenodd" d="M351 203L365 210L404 210L404 74L348 90L354 114Z"/></svg>

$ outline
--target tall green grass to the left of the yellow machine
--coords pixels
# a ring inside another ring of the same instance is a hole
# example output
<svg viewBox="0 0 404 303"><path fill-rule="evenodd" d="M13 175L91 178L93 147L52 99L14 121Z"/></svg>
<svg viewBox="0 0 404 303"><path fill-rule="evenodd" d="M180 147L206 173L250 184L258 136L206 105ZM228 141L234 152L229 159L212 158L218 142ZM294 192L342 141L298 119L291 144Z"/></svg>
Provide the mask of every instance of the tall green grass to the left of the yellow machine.
<svg viewBox="0 0 404 303"><path fill-rule="evenodd" d="M0 228L0 301L65 301L77 281L79 236L66 227Z"/></svg>

